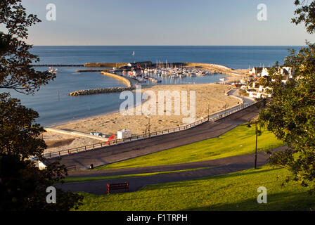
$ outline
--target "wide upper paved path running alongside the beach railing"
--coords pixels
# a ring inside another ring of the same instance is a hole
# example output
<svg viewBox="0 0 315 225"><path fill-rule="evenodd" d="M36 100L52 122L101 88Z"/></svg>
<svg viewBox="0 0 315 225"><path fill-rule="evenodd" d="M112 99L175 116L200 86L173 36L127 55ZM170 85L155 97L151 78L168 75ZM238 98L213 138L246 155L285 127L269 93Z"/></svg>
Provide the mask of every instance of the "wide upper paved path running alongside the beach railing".
<svg viewBox="0 0 315 225"><path fill-rule="evenodd" d="M121 143L115 146L89 150L73 155L65 155L62 157L61 163L67 167L75 165L77 169L88 169L91 164L94 164L94 167L107 165L109 163L136 158L141 155L156 153L169 148L184 146L196 141L212 139L221 136L240 124L252 120L257 117L258 112L259 109L257 106L252 105L249 108L240 110L216 122L205 122L185 131L155 136L150 139L132 141L129 143ZM49 161L52 162L53 160L56 159Z"/></svg>

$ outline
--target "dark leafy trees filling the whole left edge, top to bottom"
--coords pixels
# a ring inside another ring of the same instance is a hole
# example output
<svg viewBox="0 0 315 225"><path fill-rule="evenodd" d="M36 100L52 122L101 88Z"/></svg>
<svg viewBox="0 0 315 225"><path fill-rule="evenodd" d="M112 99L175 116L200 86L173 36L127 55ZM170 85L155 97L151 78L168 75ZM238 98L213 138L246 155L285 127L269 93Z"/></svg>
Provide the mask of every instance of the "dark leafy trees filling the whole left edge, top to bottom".
<svg viewBox="0 0 315 225"><path fill-rule="evenodd" d="M0 89L34 94L55 75L38 72L31 63L39 61L27 45L27 27L39 23L36 15L27 15L20 0L0 0ZM44 132L35 123L38 113L25 108L10 94L0 94L0 210L70 210L82 197L58 188L57 203L46 203L46 188L67 175L60 160L39 170L33 159L44 161L46 144L39 139Z"/></svg>

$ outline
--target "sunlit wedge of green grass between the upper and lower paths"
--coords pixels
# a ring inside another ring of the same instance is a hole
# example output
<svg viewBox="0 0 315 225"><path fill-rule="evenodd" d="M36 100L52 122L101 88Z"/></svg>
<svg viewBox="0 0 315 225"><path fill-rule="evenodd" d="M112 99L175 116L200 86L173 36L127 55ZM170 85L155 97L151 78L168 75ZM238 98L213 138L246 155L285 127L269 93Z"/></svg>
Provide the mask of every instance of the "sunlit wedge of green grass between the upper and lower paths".
<svg viewBox="0 0 315 225"><path fill-rule="evenodd" d="M117 169L127 167L150 167L172 165L185 162L215 160L234 155L244 155L255 152L255 127L248 128L242 124L226 134L215 139L198 141L186 146L163 150L158 153L144 155L138 158L116 162L96 169ZM267 150L283 146L270 131L262 131L258 136L257 150Z"/></svg>

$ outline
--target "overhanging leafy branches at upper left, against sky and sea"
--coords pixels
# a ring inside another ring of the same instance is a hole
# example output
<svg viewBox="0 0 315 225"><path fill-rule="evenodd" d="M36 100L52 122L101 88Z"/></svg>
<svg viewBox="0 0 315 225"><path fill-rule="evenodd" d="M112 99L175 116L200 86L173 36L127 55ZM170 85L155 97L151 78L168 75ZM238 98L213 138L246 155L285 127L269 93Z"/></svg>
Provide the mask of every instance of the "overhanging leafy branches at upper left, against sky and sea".
<svg viewBox="0 0 315 225"><path fill-rule="evenodd" d="M40 21L37 15L27 15L21 0L0 0L0 23L6 27L6 33L0 32L0 89L34 94L55 77L31 65L39 62L39 57L30 53L32 45L25 42L27 28Z"/></svg>

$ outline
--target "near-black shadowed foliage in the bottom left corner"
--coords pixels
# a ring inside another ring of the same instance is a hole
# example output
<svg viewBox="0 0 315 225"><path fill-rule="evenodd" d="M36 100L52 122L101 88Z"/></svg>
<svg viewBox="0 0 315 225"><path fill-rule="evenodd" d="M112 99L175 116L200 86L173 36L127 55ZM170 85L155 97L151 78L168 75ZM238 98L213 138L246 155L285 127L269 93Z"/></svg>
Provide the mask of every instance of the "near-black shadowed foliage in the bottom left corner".
<svg viewBox="0 0 315 225"><path fill-rule="evenodd" d="M46 203L46 188L63 178L65 167L54 162L39 170L34 162L18 155L0 153L0 211L69 210L77 208L80 195L56 188L56 204Z"/></svg>

